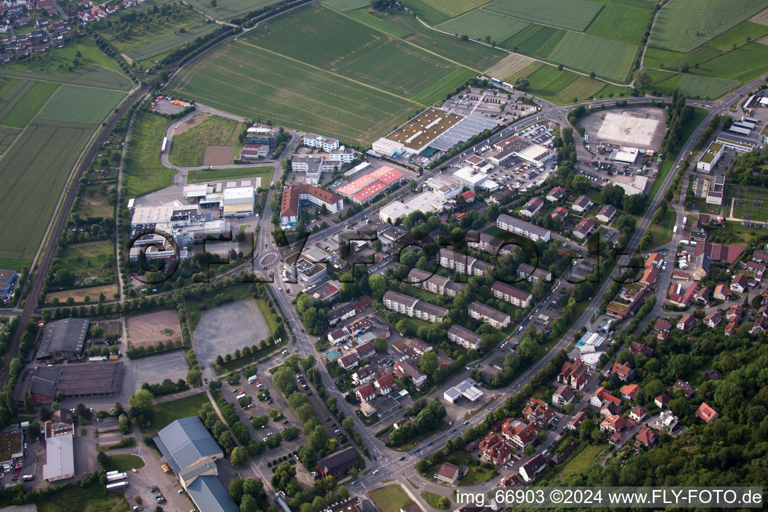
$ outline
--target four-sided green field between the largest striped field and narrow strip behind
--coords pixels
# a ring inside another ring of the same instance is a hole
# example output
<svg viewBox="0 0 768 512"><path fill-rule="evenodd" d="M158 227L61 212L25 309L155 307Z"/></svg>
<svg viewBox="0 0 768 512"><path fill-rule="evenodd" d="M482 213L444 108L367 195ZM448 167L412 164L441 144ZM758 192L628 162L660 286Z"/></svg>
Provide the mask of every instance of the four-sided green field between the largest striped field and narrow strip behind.
<svg viewBox="0 0 768 512"><path fill-rule="evenodd" d="M471 69L459 68L399 40L349 61L339 68L339 74L425 104L444 99L445 93L476 75ZM425 90L429 92L420 94Z"/></svg>

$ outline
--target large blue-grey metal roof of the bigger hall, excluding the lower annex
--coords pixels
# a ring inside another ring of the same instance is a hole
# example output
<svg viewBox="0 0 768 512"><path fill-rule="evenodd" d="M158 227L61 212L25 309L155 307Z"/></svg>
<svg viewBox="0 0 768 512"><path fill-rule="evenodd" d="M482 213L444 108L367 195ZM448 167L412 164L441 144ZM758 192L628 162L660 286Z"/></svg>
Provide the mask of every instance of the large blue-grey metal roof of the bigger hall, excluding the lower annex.
<svg viewBox="0 0 768 512"><path fill-rule="evenodd" d="M158 443L158 440L161 442ZM210 435L197 416L181 418L169 424L157 432L155 444L160 448L161 453L176 474L184 471L203 457L222 453L213 436ZM163 445L162 448L161 444Z"/></svg>

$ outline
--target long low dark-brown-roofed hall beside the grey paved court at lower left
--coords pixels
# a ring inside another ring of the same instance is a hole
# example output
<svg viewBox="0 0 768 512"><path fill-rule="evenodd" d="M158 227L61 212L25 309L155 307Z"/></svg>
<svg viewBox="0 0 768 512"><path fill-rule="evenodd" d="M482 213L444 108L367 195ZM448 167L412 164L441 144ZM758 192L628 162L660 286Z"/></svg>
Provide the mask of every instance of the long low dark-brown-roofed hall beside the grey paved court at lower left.
<svg viewBox="0 0 768 512"><path fill-rule="evenodd" d="M38 402L55 401L58 393L65 398L118 395L123 371L119 361L38 366L25 382L25 391Z"/></svg>

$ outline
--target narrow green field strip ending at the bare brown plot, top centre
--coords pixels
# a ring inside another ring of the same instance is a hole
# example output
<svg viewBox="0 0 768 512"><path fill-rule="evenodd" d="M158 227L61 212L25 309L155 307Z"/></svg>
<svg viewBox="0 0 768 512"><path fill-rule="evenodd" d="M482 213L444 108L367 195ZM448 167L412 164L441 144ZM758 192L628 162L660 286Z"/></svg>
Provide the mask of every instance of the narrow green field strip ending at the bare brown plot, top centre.
<svg viewBox="0 0 768 512"><path fill-rule="evenodd" d="M406 38L409 43L442 55L478 72L490 68L508 55L504 51L478 45L472 41L462 41L461 38L427 28L419 23L419 20L404 13L388 15L384 18L392 24L412 32L413 35Z"/></svg>

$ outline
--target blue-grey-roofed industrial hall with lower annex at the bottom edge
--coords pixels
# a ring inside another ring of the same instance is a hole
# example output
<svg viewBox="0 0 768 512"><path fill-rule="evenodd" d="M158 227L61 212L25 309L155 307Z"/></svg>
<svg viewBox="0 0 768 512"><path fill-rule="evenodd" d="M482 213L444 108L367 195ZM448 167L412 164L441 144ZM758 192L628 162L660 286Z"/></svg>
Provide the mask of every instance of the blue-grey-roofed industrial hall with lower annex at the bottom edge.
<svg viewBox="0 0 768 512"><path fill-rule="evenodd" d="M154 444L197 510L239 512L217 478L217 463L223 459L223 451L200 418L191 416L174 421L157 432Z"/></svg>

